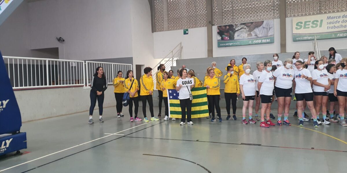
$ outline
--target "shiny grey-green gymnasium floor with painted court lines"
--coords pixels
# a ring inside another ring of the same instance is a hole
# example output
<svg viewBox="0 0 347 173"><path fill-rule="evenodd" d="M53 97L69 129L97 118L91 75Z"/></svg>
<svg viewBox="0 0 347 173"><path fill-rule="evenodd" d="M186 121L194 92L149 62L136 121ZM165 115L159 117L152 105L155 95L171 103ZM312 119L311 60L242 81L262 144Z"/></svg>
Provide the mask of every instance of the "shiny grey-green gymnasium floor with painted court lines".
<svg viewBox="0 0 347 173"><path fill-rule="evenodd" d="M312 121L302 128L297 126L293 110L289 118L292 126L270 128L260 128L259 122L243 125L240 116L225 120L225 109L223 122L201 118L184 126L179 126L179 120L129 122L127 108L122 118L117 118L115 111L115 107L105 108L105 122L97 122L98 116L94 116L92 125L87 123L87 112L24 123L28 148L23 155L0 158L0 172L347 170L347 128L338 123L314 128ZM239 111L237 115L242 115ZM158 113L158 108L154 112Z"/></svg>

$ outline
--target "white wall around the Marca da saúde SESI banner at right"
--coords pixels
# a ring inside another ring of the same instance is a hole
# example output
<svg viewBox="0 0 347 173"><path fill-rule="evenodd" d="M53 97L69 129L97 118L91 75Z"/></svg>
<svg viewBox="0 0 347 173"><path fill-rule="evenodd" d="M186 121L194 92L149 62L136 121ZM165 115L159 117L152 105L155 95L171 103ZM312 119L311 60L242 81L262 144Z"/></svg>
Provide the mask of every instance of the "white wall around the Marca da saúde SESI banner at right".
<svg viewBox="0 0 347 173"><path fill-rule="evenodd" d="M293 42L293 18L286 18L286 49L287 52L312 51L312 40ZM346 49L347 38L334 38L318 40L320 50Z"/></svg>

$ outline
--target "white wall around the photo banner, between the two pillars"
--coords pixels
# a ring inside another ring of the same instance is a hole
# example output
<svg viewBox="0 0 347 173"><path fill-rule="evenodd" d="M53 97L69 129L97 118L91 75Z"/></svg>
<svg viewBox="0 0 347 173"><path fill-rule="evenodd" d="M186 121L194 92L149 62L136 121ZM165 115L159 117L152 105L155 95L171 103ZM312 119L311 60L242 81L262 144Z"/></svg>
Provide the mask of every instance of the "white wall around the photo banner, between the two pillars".
<svg viewBox="0 0 347 173"><path fill-rule="evenodd" d="M218 47L217 45L217 26L212 27L213 34L213 57L238 56L281 52L280 38L280 19L274 19L274 43Z"/></svg>

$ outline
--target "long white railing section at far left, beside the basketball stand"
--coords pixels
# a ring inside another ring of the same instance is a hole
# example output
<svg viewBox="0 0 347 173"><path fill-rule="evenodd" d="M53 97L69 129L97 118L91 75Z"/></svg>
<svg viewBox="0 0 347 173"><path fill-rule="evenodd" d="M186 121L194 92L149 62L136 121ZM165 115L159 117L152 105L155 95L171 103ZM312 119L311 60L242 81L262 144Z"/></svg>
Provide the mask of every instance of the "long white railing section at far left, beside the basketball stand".
<svg viewBox="0 0 347 173"><path fill-rule="evenodd" d="M84 86L84 61L3 56L12 87Z"/></svg>

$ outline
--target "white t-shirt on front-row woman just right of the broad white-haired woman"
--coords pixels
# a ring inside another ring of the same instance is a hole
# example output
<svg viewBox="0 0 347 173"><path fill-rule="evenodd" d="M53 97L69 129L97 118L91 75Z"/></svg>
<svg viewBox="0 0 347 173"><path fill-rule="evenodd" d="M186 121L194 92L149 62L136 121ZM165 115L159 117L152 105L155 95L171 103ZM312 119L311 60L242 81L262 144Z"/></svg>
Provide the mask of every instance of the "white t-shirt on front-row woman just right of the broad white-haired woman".
<svg viewBox="0 0 347 173"><path fill-rule="evenodd" d="M308 78L312 77L311 72L307 69L302 70L296 70L295 71L295 93L302 94L302 93L311 93L311 83L310 81L306 80L305 78L302 78L301 75L305 75Z"/></svg>

